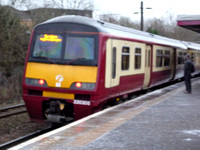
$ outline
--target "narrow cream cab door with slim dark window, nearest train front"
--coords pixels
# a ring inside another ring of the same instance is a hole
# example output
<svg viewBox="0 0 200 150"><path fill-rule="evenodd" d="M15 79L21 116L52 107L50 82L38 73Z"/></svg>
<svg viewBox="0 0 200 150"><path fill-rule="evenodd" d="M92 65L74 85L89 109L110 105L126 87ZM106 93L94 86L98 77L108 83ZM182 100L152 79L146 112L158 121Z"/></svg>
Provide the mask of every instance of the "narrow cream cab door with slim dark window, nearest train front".
<svg viewBox="0 0 200 150"><path fill-rule="evenodd" d="M118 62L119 58L118 46L119 42L117 40L108 40L106 46L106 79L105 87L111 88L119 85L119 73L118 73Z"/></svg>

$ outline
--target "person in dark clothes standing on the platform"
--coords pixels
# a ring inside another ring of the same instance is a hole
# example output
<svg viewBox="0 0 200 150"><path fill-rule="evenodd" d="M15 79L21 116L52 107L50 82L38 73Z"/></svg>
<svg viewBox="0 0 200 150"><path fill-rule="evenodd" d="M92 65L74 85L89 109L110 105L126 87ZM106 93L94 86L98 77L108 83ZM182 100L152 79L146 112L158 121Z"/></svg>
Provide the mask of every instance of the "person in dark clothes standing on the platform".
<svg viewBox="0 0 200 150"><path fill-rule="evenodd" d="M191 73L194 72L194 64L192 60L190 59L190 55L187 54L185 57L185 63L184 63L184 78L185 78L185 86L186 86L186 92L192 93L192 87L191 87Z"/></svg>

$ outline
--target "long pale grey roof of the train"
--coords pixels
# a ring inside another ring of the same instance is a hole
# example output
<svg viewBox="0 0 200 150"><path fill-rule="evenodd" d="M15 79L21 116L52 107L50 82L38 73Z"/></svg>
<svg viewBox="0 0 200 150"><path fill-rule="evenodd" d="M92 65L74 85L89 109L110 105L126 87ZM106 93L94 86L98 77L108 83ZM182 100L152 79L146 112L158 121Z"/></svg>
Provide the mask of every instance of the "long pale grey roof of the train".
<svg viewBox="0 0 200 150"><path fill-rule="evenodd" d="M88 26L92 26L96 28L99 32L108 33L114 36L119 36L119 37L124 37L124 38L133 38L136 40L145 41L149 44L152 44L152 43L160 44L160 45L172 46L172 47L181 48L181 49L188 49L188 48L200 49L199 44L193 44L193 43L189 44L187 42L183 43L180 40L175 40L175 39L171 39L171 38L167 38L167 37L163 37L159 35L154 35L151 33L143 32L136 29L127 28L120 25L115 25L112 23L107 23L104 21L95 20L95 19L83 17L83 16L74 16L74 15L60 16L60 17L47 20L43 22L42 24L57 23L57 22L77 23L77 24L88 25Z"/></svg>

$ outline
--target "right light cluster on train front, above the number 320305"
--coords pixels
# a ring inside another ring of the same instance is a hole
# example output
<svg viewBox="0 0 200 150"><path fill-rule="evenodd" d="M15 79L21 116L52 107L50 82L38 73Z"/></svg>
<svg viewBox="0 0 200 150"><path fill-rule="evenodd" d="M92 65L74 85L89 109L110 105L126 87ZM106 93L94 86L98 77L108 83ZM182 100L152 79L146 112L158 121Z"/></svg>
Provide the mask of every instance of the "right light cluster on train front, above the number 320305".
<svg viewBox="0 0 200 150"><path fill-rule="evenodd" d="M71 85L70 89L73 90L94 90L95 83L75 82Z"/></svg>

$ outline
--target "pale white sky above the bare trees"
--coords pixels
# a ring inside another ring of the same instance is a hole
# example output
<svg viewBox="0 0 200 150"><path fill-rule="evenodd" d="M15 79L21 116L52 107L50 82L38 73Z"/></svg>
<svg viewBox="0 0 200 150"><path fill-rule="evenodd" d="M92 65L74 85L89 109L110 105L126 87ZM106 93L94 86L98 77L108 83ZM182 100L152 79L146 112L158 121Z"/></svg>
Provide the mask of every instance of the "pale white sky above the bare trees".
<svg viewBox="0 0 200 150"><path fill-rule="evenodd" d="M131 20L140 20L141 0L95 0L95 16L102 13L126 16ZM200 15L199 0L143 0L144 18L164 19L170 15ZM150 7L152 9L145 9Z"/></svg>

